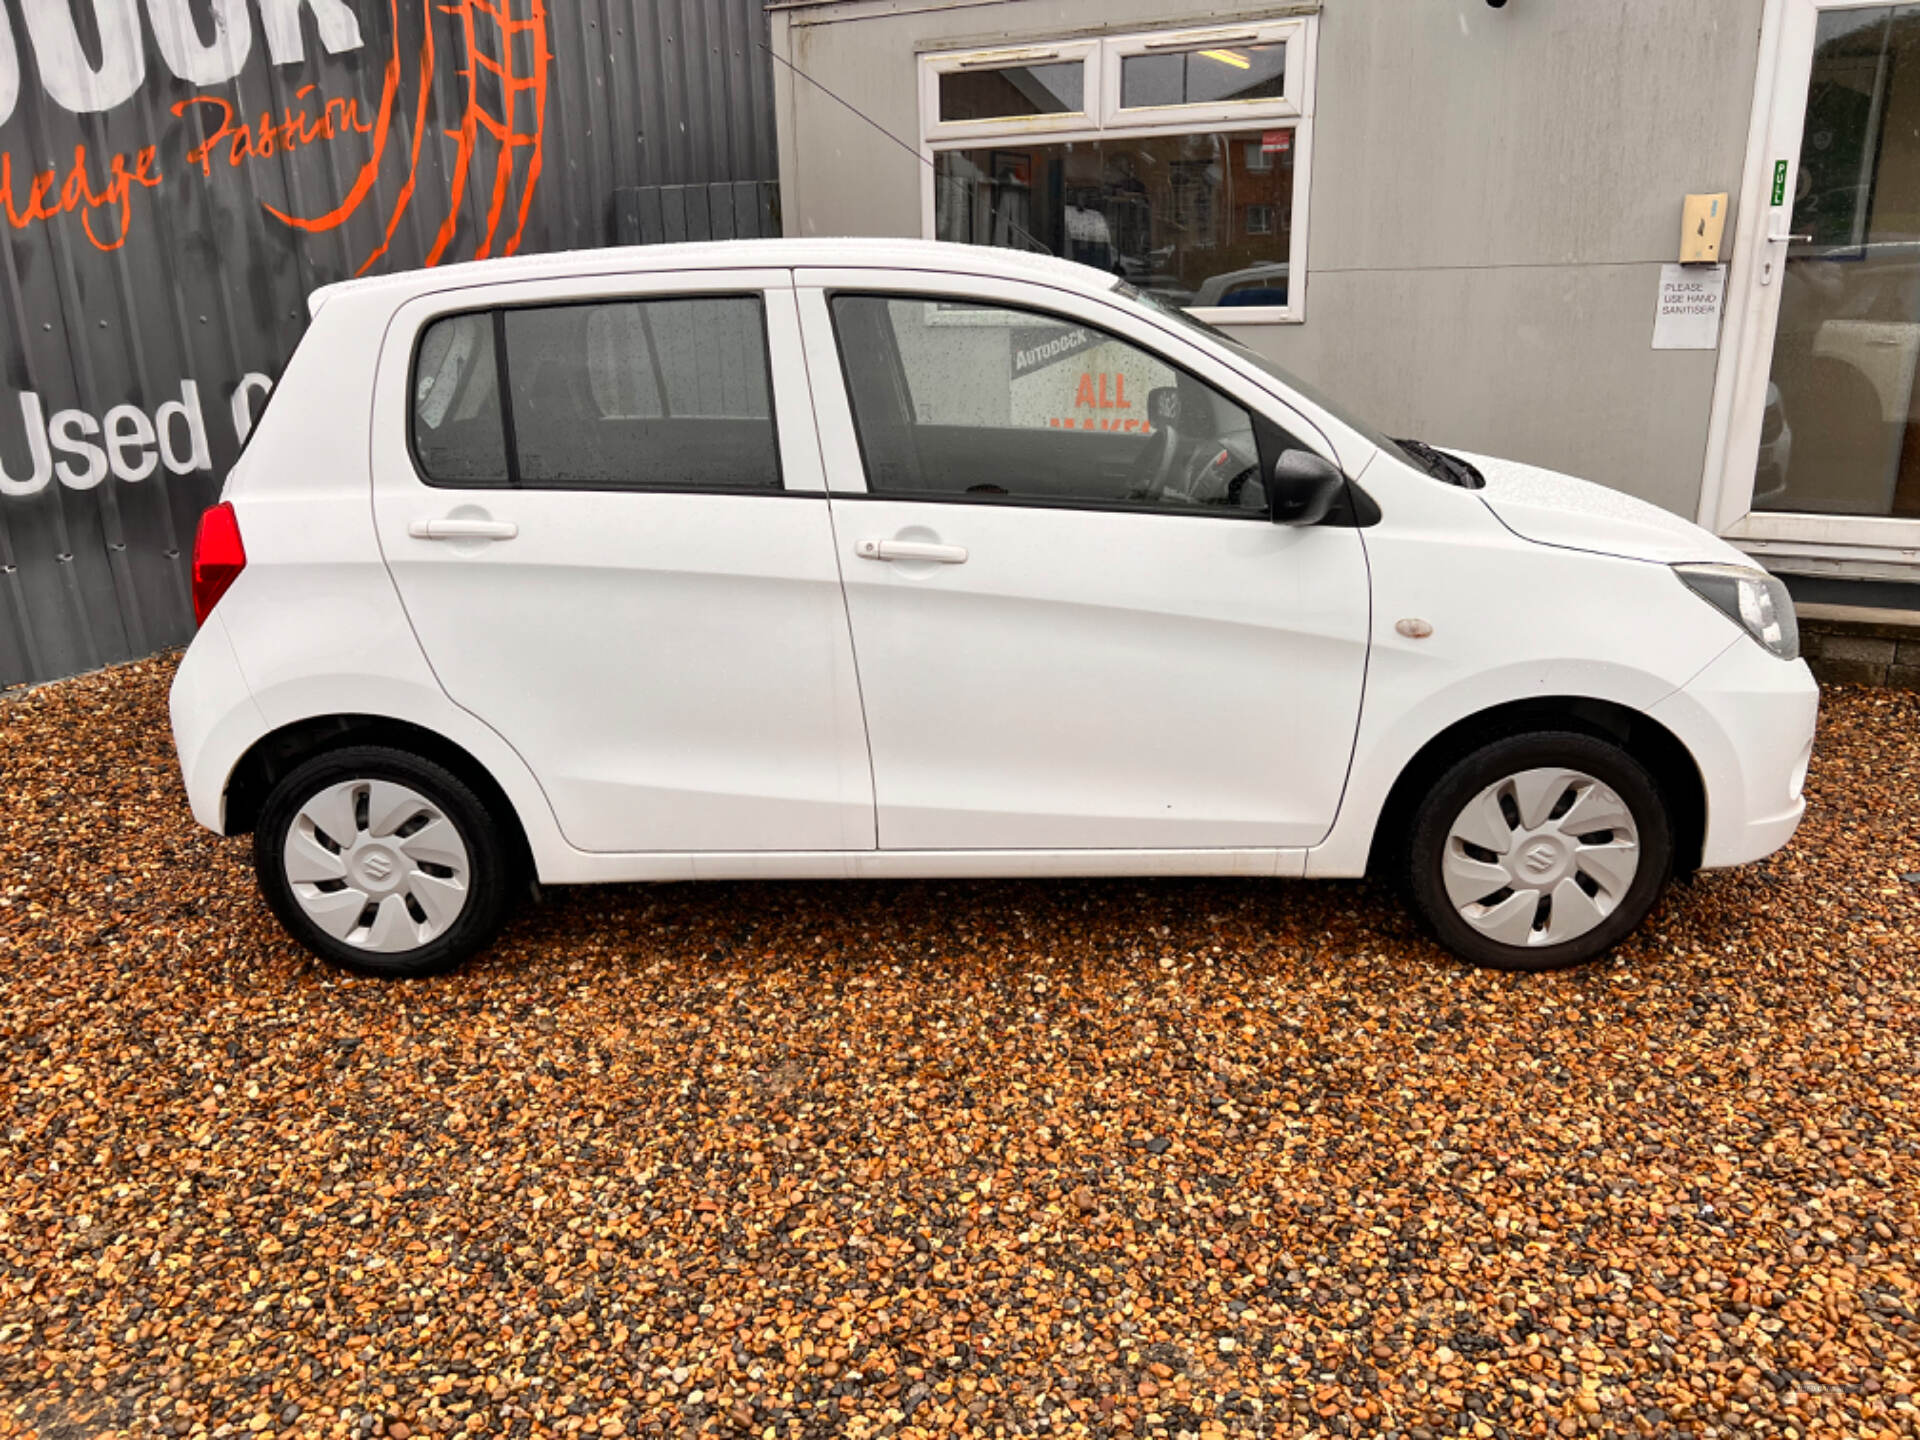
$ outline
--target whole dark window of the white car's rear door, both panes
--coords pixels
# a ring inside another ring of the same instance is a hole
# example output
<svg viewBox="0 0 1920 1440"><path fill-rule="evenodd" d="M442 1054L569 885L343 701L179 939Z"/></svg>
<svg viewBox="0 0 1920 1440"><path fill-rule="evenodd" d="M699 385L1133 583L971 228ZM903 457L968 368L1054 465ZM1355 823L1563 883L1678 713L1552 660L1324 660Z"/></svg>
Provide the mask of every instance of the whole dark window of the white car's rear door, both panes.
<svg viewBox="0 0 1920 1440"><path fill-rule="evenodd" d="M453 338L442 342L444 328ZM472 397L444 399L445 355L461 348L486 351L493 380L484 397L472 378ZM492 413L495 449L467 442L476 453L463 463L449 453L447 426L468 409L476 419ZM766 315L749 296L530 305L438 321L420 340L413 428L428 484L781 488ZM484 478L490 463L499 478Z"/></svg>

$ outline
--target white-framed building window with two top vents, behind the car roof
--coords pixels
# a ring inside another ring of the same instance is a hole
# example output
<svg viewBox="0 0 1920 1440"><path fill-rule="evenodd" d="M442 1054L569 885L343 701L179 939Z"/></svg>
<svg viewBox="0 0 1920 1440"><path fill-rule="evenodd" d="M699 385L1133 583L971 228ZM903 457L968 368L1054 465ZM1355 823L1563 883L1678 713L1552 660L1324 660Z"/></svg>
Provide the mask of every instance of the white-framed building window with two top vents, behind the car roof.
<svg viewBox="0 0 1920 1440"><path fill-rule="evenodd" d="M1304 319L1315 25L922 56L927 234L1094 265L1206 319Z"/></svg>

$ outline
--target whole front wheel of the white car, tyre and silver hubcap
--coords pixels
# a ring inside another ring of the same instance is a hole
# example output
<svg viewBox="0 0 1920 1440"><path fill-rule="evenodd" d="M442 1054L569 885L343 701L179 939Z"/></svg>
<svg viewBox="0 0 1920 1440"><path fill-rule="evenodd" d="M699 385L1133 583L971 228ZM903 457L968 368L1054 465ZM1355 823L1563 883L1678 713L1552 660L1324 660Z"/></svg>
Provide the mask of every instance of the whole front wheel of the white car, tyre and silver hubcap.
<svg viewBox="0 0 1920 1440"><path fill-rule="evenodd" d="M1413 818L1413 904L1450 950L1561 970L1611 950L1672 874L1659 785L1619 745L1572 732L1498 739L1455 762Z"/></svg>

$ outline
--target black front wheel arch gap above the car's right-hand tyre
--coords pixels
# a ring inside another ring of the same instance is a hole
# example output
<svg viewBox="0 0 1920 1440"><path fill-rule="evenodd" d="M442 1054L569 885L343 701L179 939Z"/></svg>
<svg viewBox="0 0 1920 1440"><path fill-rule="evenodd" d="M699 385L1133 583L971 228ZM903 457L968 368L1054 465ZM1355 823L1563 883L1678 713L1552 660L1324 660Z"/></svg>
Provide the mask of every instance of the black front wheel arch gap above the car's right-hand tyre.
<svg viewBox="0 0 1920 1440"><path fill-rule="evenodd" d="M1668 804L1674 874L1699 870L1707 839L1707 787L1692 751L1653 716L1615 701L1580 695L1542 695L1478 710L1427 741L1400 770L1373 826L1369 876L1400 874L1413 812L1434 781L1473 751L1496 739L1540 730L1571 730L1619 745L1644 764Z"/></svg>

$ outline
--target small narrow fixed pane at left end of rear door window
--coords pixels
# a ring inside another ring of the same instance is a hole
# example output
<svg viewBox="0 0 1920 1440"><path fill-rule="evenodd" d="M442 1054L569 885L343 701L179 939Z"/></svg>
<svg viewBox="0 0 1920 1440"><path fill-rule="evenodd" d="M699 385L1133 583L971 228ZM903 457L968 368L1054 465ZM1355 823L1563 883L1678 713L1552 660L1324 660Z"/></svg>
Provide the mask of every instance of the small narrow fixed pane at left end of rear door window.
<svg viewBox="0 0 1920 1440"><path fill-rule="evenodd" d="M426 326L413 361L413 453L436 486L507 484L493 317L449 315Z"/></svg>

